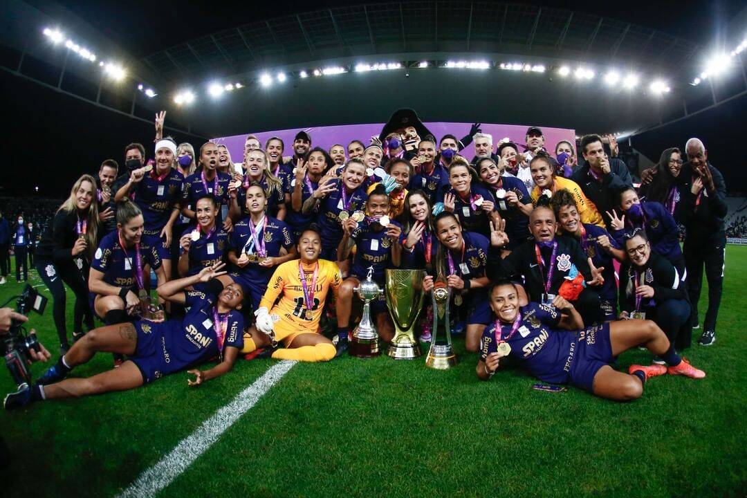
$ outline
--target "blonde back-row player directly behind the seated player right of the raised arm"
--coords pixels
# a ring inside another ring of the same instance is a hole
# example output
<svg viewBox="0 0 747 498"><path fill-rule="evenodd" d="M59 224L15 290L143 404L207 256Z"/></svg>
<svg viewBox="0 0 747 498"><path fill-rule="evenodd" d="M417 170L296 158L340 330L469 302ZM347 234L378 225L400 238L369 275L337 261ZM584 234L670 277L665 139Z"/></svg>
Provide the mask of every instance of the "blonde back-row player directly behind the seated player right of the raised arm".
<svg viewBox="0 0 747 498"><path fill-rule="evenodd" d="M267 155L261 150L252 150L244 158L244 166L247 168L247 174L244 175L241 188L238 190L236 202L231 199L231 205L234 210L241 211L241 216L249 214L246 211L247 205L247 188L249 185L258 184L264 189L267 197L267 214L278 220L285 219L285 184L281 178L276 177L270 172L270 163L267 161Z"/></svg>

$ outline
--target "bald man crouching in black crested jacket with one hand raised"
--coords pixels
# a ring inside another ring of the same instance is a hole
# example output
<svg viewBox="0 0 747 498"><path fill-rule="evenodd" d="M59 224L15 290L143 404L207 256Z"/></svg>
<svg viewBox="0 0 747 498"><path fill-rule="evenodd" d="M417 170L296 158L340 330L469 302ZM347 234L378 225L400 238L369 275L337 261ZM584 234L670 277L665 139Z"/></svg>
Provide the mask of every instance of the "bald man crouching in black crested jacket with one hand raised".
<svg viewBox="0 0 747 498"><path fill-rule="evenodd" d="M556 235L555 214L548 205L538 205L530 214L529 228L534 240L516 247L505 259L500 257L500 252L509 237L502 228L493 228L496 229L491 232L487 267L491 280L510 278L523 284L529 300L540 304L550 305L555 296L562 295L573 302L583 317L584 326L604 320L596 290L604 283L601 270L589 264L590 258L574 237ZM586 287L577 298L570 299L568 278L574 273L583 276Z"/></svg>

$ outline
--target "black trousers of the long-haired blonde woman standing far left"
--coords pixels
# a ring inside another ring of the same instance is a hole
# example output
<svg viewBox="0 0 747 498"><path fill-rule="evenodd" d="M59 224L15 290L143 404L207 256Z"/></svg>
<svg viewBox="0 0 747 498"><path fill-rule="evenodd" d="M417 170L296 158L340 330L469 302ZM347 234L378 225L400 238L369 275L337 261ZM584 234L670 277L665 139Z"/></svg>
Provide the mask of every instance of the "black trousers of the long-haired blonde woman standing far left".
<svg viewBox="0 0 747 498"><path fill-rule="evenodd" d="M40 261L37 258L36 269L47 288L49 288L49 292L52 293L52 317L55 319L60 343L68 343L64 284L67 284L72 293L75 294L75 308L72 315L73 331L75 334L83 333L84 319L88 330L93 329L93 313L88 305L88 283L84 278L84 274L87 274L87 267L83 267L84 273L78 270L78 267L72 261L67 264L54 264L50 261Z"/></svg>

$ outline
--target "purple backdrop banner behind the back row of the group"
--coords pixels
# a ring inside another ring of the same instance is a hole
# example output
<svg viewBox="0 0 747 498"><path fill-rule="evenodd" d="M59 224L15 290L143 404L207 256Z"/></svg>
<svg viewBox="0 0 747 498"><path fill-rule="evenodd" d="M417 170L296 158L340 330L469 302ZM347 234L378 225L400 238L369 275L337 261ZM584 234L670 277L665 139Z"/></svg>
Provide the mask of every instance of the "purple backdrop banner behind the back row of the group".
<svg viewBox="0 0 747 498"><path fill-rule="evenodd" d="M426 127L436 137L437 140L441 140L445 134L450 133L455 135L458 139L461 139L469 133L471 123L466 122L426 122ZM352 140L361 140L367 144L371 142L371 137L376 135L379 136L383 123L373 123L368 125L336 125L336 126L314 126L311 128L303 128L304 131L311 135L311 146L320 146L325 150L335 143L340 143L345 148L345 155L347 156L347 144ZM525 142L528 125L496 125L492 123L483 123L481 126L483 133L489 133L493 136L493 145L497 145L500 140L505 137L509 137L512 141L522 144ZM285 143L285 155L293 154L293 139L300 131L301 128L293 128L289 130L278 130L278 131L263 131L261 133L255 133L258 137L262 147L264 143L270 137L280 137ZM565 128L546 128L542 127L542 133L545 134L545 147L548 152L554 154L555 144L560 140L568 140L571 143L575 143L575 131L568 130ZM422 137L421 137L422 138ZM215 139L216 143L225 144L231 153L231 158L235 163L241 163L244 158L244 141L247 139L247 134L235 135L233 137L222 137ZM521 150L519 151L521 152ZM466 158L471 159L474 157L474 146L468 146L462 155Z"/></svg>

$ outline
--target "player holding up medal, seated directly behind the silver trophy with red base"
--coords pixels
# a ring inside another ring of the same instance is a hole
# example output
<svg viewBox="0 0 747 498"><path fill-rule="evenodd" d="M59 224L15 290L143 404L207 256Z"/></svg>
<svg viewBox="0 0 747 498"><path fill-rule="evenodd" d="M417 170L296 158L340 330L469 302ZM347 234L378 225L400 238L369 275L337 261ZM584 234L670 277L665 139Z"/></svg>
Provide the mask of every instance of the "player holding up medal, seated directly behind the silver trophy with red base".
<svg viewBox="0 0 747 498"><path fill-rule="evenodd" d="M401 249L399 239L402 227L389 219L389 196L382 184L376 185L368 196L368 217L355 220L352 217L342 222L343 235L338 247L338 261L345 261L353 246L356 255L350 277L346 278L340 289L337 306L338 355L347 350L347 337L350 333L350 319L353 311L353 288L358 287L368 276L368 269L373 267L371 278L379 287L384 287L384 270L388 267L399 267ZM382 340L389 341L394 337L386 301L383 296L371 302L371 314L376 321L376 329Z"/></svg>

